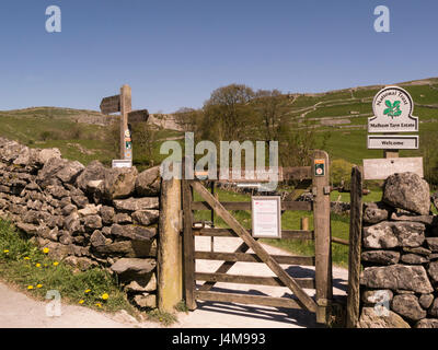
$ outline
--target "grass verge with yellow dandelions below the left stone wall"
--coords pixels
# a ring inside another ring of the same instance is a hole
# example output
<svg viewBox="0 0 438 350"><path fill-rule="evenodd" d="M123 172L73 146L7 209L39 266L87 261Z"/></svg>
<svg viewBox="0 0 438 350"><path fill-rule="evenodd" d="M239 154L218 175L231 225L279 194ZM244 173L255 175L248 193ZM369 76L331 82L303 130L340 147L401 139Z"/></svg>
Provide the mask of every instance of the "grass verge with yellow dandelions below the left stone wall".
<svg viewBox="0 0 438 350"><path fill-rule="evenodd" d="M10 222L0 220L0 279L37 300L45 300L49 290L57 290L64 303L83 305L115 313L136 310L107 271L93 268L76 272L62 261L47 256L26 240Z"/></svg>

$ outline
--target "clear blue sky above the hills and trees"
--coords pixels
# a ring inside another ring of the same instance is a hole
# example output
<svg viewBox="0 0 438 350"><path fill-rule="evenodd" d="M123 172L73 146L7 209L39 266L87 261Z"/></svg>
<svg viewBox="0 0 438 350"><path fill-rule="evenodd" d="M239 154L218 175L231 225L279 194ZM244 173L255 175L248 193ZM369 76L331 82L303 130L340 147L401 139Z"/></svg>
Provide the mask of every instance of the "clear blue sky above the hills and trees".
<svg viewBox="0 0 438 350"><path fill-rule="evenodd" d="M48 5L62 32L47 33ZM373 10L391 11L376 33ZM200 107L229 83L322 92L438 77L436 0L3 0L0 109Z"/></svg>

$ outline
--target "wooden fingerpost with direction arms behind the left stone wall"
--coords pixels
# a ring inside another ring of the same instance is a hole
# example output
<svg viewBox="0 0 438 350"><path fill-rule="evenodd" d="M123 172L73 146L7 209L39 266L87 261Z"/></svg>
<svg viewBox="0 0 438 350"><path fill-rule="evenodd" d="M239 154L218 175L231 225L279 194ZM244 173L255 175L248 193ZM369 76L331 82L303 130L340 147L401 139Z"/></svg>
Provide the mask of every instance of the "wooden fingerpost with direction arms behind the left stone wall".
<svg viewBox="0 0 438 350"><path fill-rule="evenodd" d="M102 114L120 113L120 160L113 161L113 167L132 166L132 136L130 125L148 121L148 109L131 110L131 89L127 84L120 88L119 95L104 97L100 107Z"/></svg>

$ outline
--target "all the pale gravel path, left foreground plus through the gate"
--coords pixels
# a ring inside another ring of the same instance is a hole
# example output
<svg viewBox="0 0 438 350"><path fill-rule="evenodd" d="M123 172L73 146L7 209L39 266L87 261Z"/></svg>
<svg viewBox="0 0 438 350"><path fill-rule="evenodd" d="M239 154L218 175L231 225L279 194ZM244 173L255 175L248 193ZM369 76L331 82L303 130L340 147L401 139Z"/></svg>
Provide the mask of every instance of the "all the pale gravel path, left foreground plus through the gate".
<svg viewBox="0 0 438 350"><path fill-rule="evenodd" d="M233 252L241 240L216 237L216 252ZM281 249L266 246L270 254L287 255ZM210 250L209 237L196 237L197 250ZM196 270L212 272L221 261L197 260ZM313 277L314 268L284 266L293 277ZM264 264L238 262L229 273L274 276ZM345 295L348 272L346 269L333 269L334 294ZM234 291L249 294L285 296L290 295L287 288L217 283L216 291ZM313 290L307 290L312 295ZM61 316L46 315L46 302L35 301L22 292L0 283L0 328L159 328L160 324L137 322L126 312L116 315L99 313L93 310L61 305ZM288 310L257 305L242 305L217 302L198 302L198 308L188 314L180 313L178 323L172 328L310 328L316 327L314 315L302 310Z"/></svg>

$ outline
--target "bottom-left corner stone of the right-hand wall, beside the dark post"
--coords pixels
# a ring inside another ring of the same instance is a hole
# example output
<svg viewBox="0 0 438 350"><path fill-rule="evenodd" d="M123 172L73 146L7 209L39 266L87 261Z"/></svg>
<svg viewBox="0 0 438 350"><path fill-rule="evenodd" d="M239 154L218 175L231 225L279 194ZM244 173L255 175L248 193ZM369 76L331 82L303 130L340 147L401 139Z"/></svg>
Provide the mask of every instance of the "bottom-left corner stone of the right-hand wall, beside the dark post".
<svg viewBox="0 0 438 350"><path fill-rule="evenodd" d="M379 313L374 307L364 307L359 323L359 328L411 328L411 326L397 314L392 311Z"/></svg>

